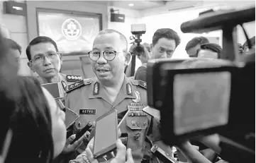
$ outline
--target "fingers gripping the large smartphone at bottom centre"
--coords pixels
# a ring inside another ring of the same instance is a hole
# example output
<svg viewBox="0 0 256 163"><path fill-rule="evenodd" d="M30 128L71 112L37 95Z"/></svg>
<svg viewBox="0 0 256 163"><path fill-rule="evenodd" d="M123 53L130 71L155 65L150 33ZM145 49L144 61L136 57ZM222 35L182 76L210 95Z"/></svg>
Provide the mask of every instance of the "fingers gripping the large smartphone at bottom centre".
<svg viewBox="0 0 256 163"><path fill-rule="evenodd" d="M86 149L87 157L91 163L98 163L98 161L94 159L94 155L91 152L92 147L93 146L91 144L87 146L87 149ZM122 163L122 162L134 163L130 148L126 150L126 146L123 145L120 139L116 141L116 149L117 149L116 157L111 159L110 163Z"/></svg>

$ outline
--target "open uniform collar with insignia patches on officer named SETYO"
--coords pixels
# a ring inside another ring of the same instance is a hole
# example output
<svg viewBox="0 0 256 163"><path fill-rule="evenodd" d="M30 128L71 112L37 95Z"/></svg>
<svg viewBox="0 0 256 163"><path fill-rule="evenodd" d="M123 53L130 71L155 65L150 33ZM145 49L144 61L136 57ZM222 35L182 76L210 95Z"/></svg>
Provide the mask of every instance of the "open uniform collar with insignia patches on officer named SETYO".
<svg viewBox="0 0 256 163"><path fill-rule="evenodd" d="M99 89L99 90L97 90ZM117 104L123 101L123 99L129 98L129 99L136 99L136 95L134 93L135 86L131 82L130 78L127 78L126 76L124 77L123 80L123 85L121 87L120 92L118 93L116 97L116 101L113 103L113 107L115 107ZM92 84L91 84L91 90L89 94L89 99L94 99L94 98L102 98L109 104L108 97L106 90L104 89L104 86L99 82L98 79L96 79Z"/></svg>

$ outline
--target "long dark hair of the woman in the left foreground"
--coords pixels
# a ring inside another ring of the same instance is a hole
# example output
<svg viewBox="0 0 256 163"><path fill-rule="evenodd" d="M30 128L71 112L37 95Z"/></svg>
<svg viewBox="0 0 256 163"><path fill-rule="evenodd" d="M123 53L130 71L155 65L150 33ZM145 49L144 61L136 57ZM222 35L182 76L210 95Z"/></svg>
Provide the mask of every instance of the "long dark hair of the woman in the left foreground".
<svg viewBox="0 0 256 163"><path fill-rule="evenodd" d="M13 131L6 163L52 162L52 121L47 99L33 77L19 77L21 97L11 117Z"/></svg>

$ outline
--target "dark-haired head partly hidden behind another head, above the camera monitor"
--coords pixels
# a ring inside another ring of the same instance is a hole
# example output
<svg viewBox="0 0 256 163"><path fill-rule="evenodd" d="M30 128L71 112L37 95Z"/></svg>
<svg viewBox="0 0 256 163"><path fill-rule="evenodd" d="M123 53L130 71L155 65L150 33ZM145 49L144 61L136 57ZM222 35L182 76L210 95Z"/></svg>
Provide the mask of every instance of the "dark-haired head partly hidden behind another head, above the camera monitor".
<svg viewBox="0 0 256 163"><path fill-rule="evenodd" d="M197 50L201 47L201 44L208 44L210 43L209 40L206 37L194 37L192 40L190 40L185 50L187 51L187 54L189 57L196 57Z"/></svg>

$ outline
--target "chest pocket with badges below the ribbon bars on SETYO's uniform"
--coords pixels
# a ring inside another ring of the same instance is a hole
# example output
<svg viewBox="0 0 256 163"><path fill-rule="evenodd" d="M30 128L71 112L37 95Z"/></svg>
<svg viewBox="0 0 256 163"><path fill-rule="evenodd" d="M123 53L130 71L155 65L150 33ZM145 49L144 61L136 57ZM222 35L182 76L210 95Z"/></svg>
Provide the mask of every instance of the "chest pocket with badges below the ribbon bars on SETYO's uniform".
<svg viewBox="0 0 256 163"><path fill-rule="evenodd" d="M128 147L131 150L143 148L145 135L148 128L148 116L127 116L126 127L129 131Z"/></svg>

